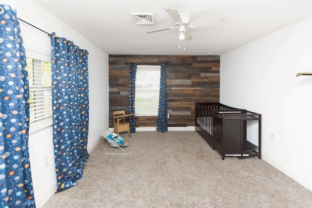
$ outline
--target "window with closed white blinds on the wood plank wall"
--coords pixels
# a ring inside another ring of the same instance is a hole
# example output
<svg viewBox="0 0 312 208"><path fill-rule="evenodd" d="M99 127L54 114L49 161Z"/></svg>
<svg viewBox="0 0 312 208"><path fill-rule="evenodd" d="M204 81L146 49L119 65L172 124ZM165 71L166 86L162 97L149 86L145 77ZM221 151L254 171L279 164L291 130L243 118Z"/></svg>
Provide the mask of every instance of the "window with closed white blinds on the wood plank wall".
<svg viewBox="0 0 312 208"><path fill-rule="evenodd" d="M160 66L137 66L136 116L157 116L159 104Z"/></svg>

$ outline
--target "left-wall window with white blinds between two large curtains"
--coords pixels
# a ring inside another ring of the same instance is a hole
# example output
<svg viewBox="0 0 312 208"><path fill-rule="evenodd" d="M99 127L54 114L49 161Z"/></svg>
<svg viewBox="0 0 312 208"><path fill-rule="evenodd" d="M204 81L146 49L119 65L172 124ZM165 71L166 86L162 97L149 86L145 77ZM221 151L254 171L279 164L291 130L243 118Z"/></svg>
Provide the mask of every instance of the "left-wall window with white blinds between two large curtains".
<svg viewBox="0 0 312 208"><path fill-rule="evenodd" d="M26 51L29 79L30 131L52 124L51 57ZM35 128L34 128L35 127Z"/></svg>

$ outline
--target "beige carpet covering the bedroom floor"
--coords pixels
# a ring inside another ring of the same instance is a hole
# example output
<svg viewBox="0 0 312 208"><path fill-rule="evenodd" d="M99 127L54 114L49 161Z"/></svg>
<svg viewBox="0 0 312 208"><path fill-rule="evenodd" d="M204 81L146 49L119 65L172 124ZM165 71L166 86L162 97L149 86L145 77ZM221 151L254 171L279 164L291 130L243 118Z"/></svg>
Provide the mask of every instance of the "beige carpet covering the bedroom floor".
<svg viewBox="0 0 312 208"><path fill-rule="evenodd" d="M136 132L124 155L90 152L75 187L44 208L311 208L312 191L257 157L226 157L196 132ZM108 152L120 152L109 147Z"/></svg>

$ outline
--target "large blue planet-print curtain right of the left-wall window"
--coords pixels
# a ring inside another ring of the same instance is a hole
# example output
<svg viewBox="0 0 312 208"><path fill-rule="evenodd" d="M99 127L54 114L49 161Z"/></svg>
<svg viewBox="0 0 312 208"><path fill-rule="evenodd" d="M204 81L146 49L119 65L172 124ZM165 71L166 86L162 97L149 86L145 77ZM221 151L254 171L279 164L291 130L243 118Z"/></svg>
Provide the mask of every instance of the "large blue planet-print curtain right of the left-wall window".
<svg viewBox="0 0 312 208"><path fill-rule="evenodd" d="M51 34L53 143L58 189L77 185L88 161L88 52Z"/></svg>

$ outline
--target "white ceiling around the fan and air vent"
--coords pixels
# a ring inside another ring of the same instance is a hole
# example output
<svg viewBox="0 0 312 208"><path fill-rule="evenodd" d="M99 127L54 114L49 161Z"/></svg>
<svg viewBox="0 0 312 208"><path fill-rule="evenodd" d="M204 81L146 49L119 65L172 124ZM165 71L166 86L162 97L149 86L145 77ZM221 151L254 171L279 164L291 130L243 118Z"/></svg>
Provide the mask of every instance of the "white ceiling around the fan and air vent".
<svg viewBox="0 0 312 208"><path fill-rule="evenodd" d="M110 55L222 55L312 16L312 0L36 1ZM189 29L193 39L185 41L183 50L183 42L178 48L177 29L146 33L176 26L165 11L168 8L189 15L190 22L225 22ZM131 12L153 12L156 24L138 25Z"/></svg>

